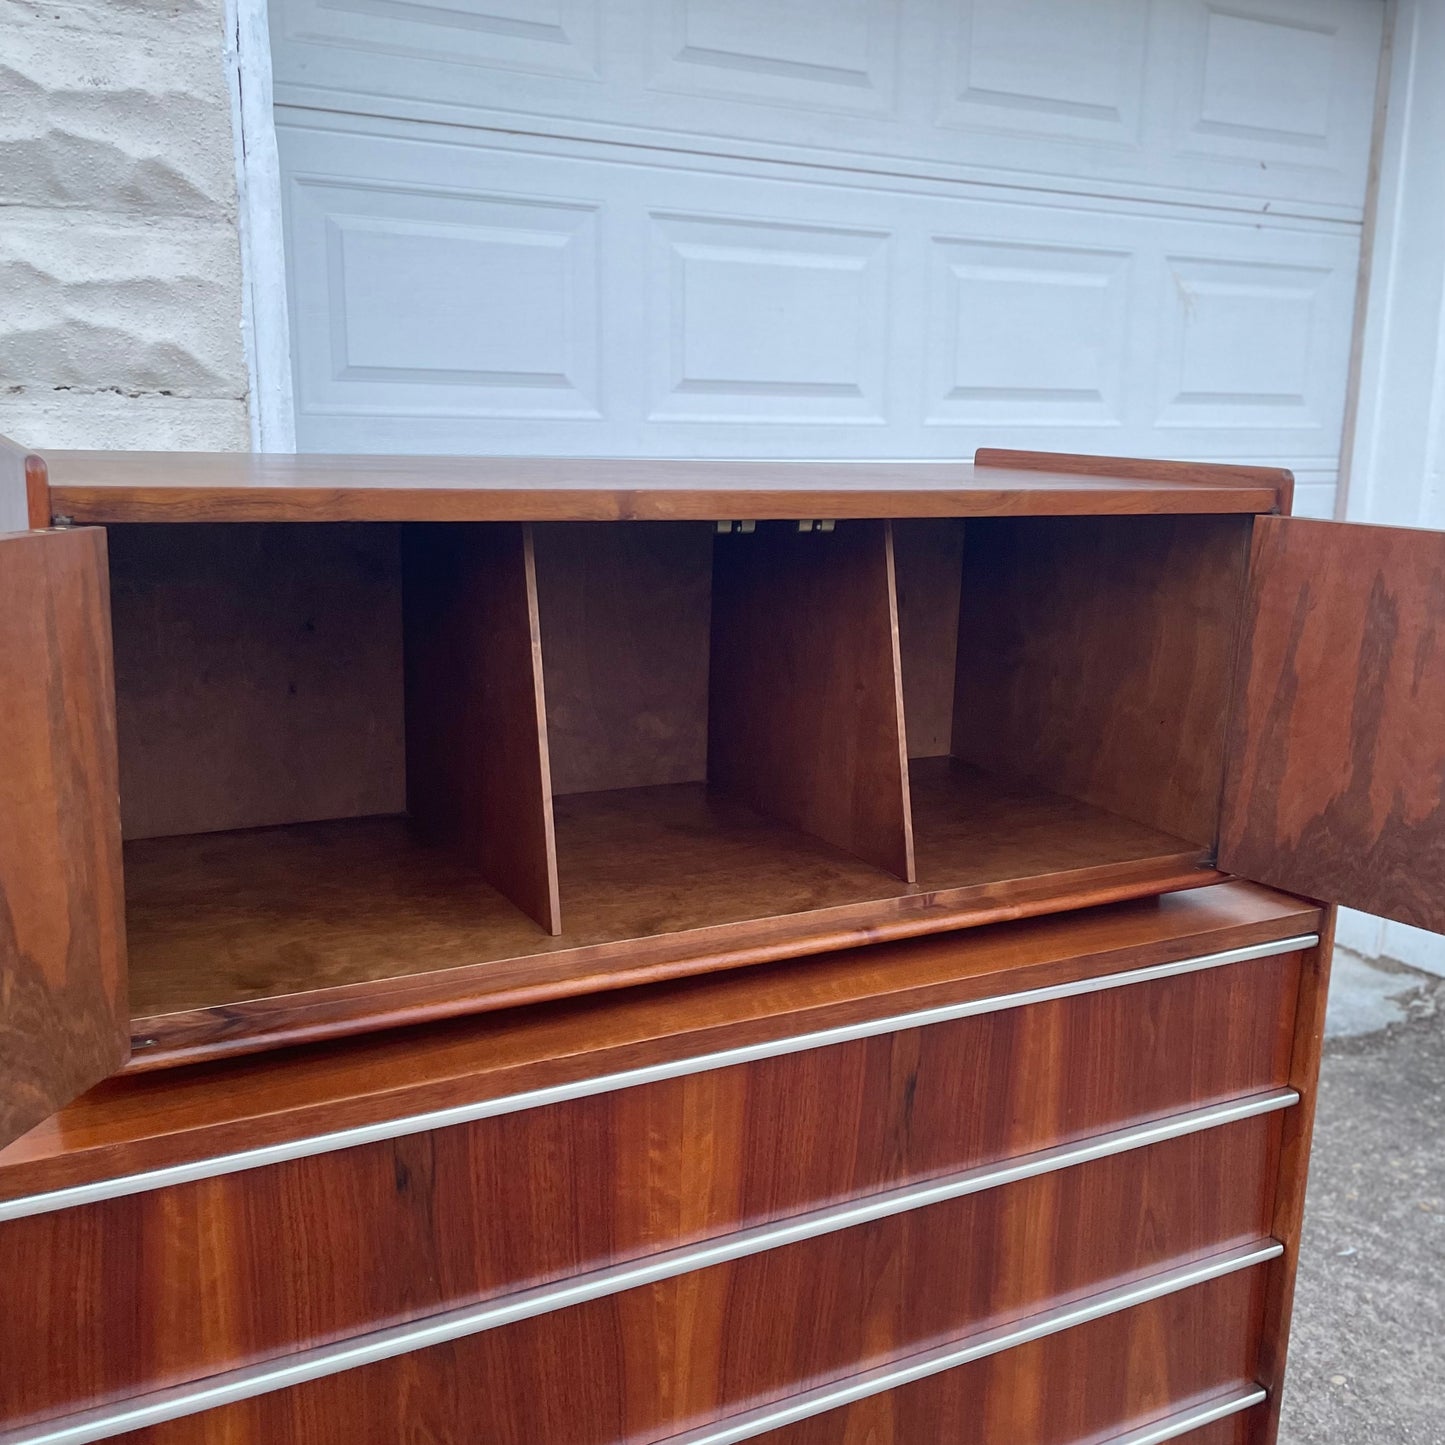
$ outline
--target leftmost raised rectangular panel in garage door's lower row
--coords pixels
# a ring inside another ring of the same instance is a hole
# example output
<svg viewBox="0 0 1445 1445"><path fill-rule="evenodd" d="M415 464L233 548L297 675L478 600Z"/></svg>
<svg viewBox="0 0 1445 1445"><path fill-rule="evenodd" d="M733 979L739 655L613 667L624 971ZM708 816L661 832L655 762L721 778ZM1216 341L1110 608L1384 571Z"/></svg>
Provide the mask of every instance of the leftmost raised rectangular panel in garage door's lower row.
<svg viewBox="0 0 1445 1445"><path fill-rule="evenodd" d="M292 198L308 410L601 418L595 207L384 185Z"/></svg>

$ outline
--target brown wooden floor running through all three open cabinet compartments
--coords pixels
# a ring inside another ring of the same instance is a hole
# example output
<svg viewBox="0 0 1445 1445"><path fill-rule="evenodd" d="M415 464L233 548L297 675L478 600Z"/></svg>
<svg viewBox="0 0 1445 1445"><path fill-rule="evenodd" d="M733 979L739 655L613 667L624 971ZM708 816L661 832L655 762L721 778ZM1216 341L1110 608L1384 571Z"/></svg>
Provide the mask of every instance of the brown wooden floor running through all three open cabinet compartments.
<svg viewBox="0 0 1445 1445"><path fill-rule="evenodd" d="M1040 890L1069 894L1101 876L1146 887L1205 861L1181 838L951 759L910 773L912 886L702 783L559 799L568 906L556 936L418 842L399 815L127 844L137 1030L163 1030L168 1014L464 965L486 965L477 987L504 1001L595 981L607 944L707 931L708 951L746 948L790 936L790 919L809 931L818 922L805 915L884 900L1029 910Z"/></svg>

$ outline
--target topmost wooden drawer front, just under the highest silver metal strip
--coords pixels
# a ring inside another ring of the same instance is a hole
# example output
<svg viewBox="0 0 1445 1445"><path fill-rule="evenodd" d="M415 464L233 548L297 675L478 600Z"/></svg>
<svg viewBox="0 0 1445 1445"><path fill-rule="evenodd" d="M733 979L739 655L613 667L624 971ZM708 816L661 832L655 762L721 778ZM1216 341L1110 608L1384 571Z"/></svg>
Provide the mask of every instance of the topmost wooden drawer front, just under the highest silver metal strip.
<svg viewBox="0 0 1445 1445"><path fill-rule="evenodd" d="M0 1422L1282 1085L1298 977L1230 964L0 1224L35 1322Z"/></svg>

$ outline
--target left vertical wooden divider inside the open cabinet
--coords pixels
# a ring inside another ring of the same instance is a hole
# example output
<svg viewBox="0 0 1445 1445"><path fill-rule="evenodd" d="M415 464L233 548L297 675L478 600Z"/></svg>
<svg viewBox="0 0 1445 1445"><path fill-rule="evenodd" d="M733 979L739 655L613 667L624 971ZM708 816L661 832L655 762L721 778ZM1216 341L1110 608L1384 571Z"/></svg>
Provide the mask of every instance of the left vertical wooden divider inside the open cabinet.
<svg viewBox="0 0 1445 1445"><path fill-rule="evenodd" d="M532 527L403 527L402 574L412 822L559 933Z"/></svg>

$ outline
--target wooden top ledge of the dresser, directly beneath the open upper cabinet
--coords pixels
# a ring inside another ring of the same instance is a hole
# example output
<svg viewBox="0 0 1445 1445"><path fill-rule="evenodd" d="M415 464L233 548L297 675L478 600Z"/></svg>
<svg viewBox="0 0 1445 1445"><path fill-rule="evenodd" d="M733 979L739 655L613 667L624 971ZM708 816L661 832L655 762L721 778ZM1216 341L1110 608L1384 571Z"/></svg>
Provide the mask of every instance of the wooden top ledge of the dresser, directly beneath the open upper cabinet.
<svg viewBox="0 0 1445 1445"><path fill-rule="evenodd" d="M795 959L743 974L683 978L506 1014L462 1017L285 1055L124 1075L0 1150L0 1198L760 1039L1290 938L1308 933L1318 922L1314 905L1253 884L1228 883L962 935ZM1254 1016L1243 1004L1240 1012L1246 1020ZM1286 1020L1280 1027L1287 1026ZM1176 1010L1169 1027L1188 1029L1189 1019ZM1267 1058L1276 1058L1274 1048L1266 1048ZM1277 1064L1256 1075L1230 1075L1233 1084L1243 1087L1247 1077L1263 1081L1261 1087L1274 1081L1287 1058L1285 1033L1277 1048ZM1120 1053L1117 1059L1127 1059L1133 1068L1131 1055ZM1156 1051L1149 1068L1168 1065L1169 1059ZM951 1059L948 1069L952 1077L957 1061ZM1146 1069L1146 1077L1153 1075ZM1221 1087L1230 1087L1230 1079ZM1140 1107L1156 1108L1159 1101L1142 1098Z"/></svg>

